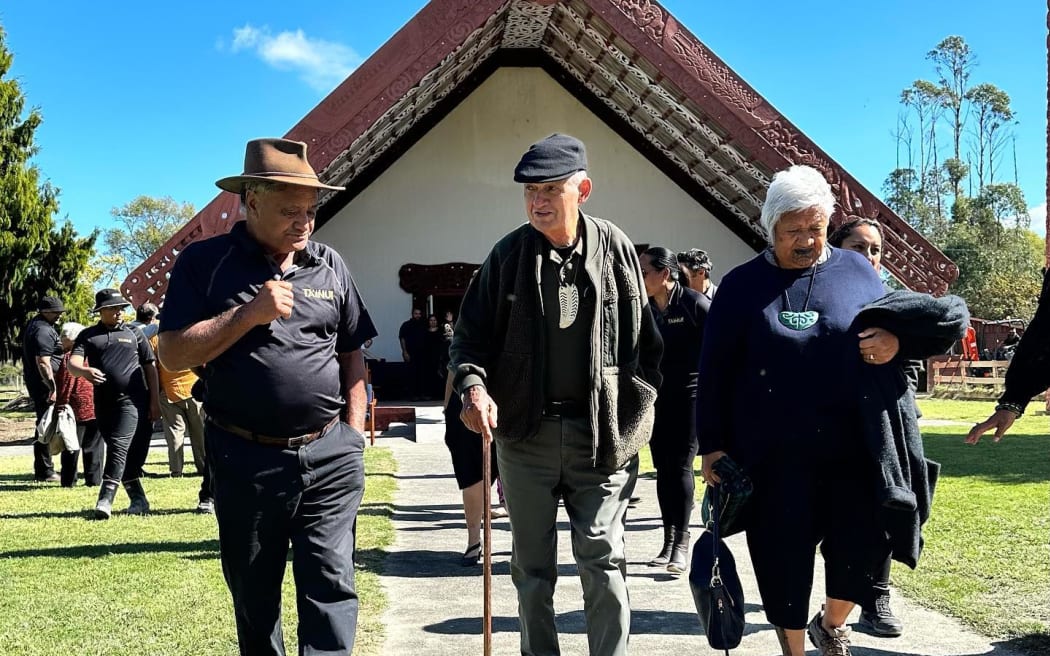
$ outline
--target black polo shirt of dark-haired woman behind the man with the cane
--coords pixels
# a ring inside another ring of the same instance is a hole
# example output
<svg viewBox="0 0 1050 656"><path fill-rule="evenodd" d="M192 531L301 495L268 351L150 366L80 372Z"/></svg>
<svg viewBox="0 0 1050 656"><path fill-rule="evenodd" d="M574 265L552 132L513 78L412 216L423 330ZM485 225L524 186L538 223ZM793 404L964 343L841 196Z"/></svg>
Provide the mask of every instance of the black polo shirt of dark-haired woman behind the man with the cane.
<svg viewBox="0 0 1050 656"><path fill-rule="evenodd" d="M660 311L652 298L656 327L664 338L664 357L659 371L664 384L659 394L664 399L696 397L696 379L700 368L700 347L704 344L704 323L708 318L711 300L688 287L676 283L671 290L667 308Z"/></svg>

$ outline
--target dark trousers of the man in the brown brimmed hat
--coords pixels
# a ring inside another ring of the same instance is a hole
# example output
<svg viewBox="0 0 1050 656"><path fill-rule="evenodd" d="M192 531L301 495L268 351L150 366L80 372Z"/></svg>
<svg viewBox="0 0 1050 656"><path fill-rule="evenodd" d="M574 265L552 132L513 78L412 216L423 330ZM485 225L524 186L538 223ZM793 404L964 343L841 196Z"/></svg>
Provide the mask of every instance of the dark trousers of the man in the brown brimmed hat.
<svg viewBox="0 0 1050 656"><path fill-rule="evenodd" d="M299 654L353 652L355 521L364 494L364 436L340 422L319 440L281 449L208 423L205 441L240 653L285 654L280 586L289 546Z"/></svg>

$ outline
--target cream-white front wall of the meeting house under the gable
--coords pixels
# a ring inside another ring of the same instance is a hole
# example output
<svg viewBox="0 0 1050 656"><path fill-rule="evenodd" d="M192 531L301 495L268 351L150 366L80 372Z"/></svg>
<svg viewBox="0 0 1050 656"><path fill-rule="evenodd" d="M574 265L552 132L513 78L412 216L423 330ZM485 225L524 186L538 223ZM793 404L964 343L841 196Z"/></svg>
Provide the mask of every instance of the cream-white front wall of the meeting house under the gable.
<svg viewBox="0 0 1050 656"><path fill-rule="evenodd" d="M754 251L540 68L501 68L330 219L314 238L342 254L379 337L398 361L412 296L402 264L480 263L525 220L513 168L530 144L565 132L587 146L584 211L637 244L706 250L714 280Z"/></svg>

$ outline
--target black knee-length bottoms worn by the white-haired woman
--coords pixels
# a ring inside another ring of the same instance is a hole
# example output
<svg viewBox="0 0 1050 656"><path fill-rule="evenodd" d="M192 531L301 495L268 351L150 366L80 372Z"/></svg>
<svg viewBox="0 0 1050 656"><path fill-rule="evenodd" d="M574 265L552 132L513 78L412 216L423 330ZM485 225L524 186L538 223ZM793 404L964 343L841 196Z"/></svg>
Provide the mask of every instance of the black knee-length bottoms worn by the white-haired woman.
<svg viewBox="0 0 1050 656"><path fill-rule="evenodd" d="M778 448L752 471L748 549L765 616L776 627L805 628L818 544L826 595L874 606L875 573L889 543L861 438L838 437Z"/></svg>

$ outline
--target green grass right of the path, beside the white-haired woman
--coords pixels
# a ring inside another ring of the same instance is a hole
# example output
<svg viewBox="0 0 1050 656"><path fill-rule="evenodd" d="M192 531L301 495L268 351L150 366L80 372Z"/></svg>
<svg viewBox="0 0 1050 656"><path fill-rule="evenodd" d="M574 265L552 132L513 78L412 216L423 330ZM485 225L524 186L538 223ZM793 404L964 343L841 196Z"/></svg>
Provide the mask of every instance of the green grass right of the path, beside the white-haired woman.
<svg viewBox="0 0 1050 656"><path fill-rule="evenodd" d="M985 635L1033 636L1031 653L1050 653L1050 418L1026 415L999 444L991 433L965 444L993 406L920 402L925 419L963 425L923 427L926 456L943 468L919 568L895 565L892 580Z"/></svg>

